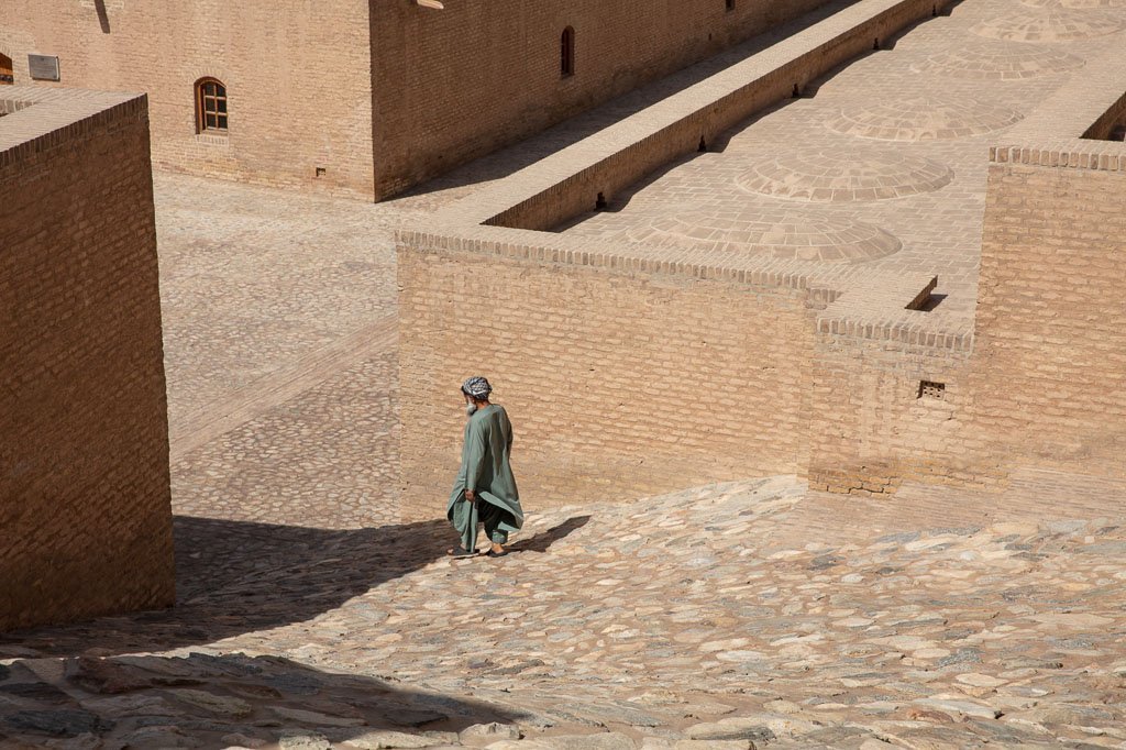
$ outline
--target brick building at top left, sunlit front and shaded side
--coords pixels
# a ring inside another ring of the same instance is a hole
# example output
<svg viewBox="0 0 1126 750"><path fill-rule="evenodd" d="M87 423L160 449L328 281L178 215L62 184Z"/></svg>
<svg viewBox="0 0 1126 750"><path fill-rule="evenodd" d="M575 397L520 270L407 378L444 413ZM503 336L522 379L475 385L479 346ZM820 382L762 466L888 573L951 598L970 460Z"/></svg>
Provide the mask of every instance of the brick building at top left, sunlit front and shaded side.
<svg viewBox="0 0 1126 750"><path fill-rule="evenodd" d="M159 168L379 199L823 5L11 0L0 52L17 83L34 52L64 86L146 91ZM227 87L226 137L196 134L206 75Z"/></svg>

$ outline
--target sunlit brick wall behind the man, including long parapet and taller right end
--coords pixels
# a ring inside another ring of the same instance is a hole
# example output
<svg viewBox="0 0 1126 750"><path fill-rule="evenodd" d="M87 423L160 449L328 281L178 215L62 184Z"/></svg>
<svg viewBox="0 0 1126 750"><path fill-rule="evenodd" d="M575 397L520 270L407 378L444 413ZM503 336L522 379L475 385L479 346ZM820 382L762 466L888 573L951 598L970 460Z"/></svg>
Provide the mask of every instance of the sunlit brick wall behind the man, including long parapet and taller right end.
<svg viewBox="0 0 1126 750"><path fill-rule="evenodd" d="M933 10L856 3L833 17L843 26L805 29L402 232L409 511L445 492L456 384L484 366L545 505L780 472L842 493L1000 488L1029 464L1126 476L1126 148L1091 137L1118 120L1115 60L1010 130L1021 145L991 150L975 314L944 309L924 273L535 231L711 142L727 107L745 117L822 74L801 68L822 45Z"/></svg>

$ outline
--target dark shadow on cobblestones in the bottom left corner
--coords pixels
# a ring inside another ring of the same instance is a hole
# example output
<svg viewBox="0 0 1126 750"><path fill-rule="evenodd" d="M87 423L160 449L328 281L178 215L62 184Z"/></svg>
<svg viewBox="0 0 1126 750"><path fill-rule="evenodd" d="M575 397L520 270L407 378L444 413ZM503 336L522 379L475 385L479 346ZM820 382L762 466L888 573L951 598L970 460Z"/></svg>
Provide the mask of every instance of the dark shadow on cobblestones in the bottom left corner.
<svg viewBox="0 0 1126 750"><path fill-rule="evenodd" d="M402 690L276 657L117 657L0 666L0 747L359 747L452 744L473 724L519 712Z"/></svg>

